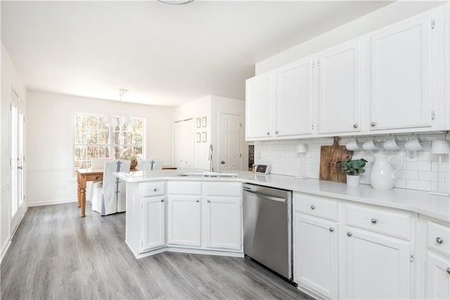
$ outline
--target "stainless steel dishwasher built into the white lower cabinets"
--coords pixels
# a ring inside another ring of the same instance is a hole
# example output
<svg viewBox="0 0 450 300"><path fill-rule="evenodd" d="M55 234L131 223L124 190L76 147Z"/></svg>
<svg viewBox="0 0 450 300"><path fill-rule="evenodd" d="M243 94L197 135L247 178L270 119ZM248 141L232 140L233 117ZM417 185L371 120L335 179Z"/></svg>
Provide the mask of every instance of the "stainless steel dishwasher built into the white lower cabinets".
<svg viewBox="0 0 450 300"><path fill-rule="evenodd" d="M243 185L244 254L292 282L292 192Z"/></svg>

